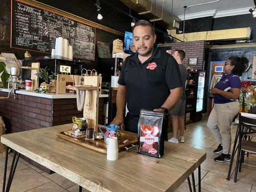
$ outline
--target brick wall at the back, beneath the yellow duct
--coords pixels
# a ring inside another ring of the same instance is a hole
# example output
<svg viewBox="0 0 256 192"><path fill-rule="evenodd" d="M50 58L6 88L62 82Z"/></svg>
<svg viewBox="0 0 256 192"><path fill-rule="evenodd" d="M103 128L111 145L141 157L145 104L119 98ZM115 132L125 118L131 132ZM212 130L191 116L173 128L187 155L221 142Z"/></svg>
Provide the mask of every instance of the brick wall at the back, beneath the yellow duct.
<svg viewBox="0 0 256 192"><path fill-rule="evenodd" d="M183 60L183 65L188 66L188 58L197 58L197 65L192 65L195 69L203 69L204 56L205 56L205 41L190 41L190 42L179 42L171 44L171 52L175 49L182 49L186 53L186 57Z"/></svg>

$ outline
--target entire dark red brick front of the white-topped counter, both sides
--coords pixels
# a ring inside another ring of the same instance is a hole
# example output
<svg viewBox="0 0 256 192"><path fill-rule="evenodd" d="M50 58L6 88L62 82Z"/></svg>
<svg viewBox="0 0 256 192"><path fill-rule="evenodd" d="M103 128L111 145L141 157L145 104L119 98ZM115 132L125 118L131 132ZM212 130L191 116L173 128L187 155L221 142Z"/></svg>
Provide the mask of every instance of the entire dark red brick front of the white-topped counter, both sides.
<svg viewBox="0 0 256 192"><path fill-rule="evenodd" d="M8 93L0 91L0 96L8 96ZM72 117L83 117L83 111L77 110L75 98L49 99L18 94L16 99L0 99L0 116L3 117L7 133L12 133L72 123ZM98 123L103 124L103 98L99 98L98 116ZM52 173L35 161L21 157Z"/></svg>

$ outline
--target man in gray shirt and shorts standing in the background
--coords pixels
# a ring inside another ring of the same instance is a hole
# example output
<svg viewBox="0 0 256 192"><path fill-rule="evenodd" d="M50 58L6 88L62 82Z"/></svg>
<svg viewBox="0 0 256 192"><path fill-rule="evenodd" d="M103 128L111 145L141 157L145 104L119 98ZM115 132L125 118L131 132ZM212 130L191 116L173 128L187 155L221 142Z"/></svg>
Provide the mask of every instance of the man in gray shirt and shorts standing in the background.
<svg viewBox="0 0 256 192"><path fill-rule="evenodd" d="M184 116L185 116L185 107L186 107L185 84L186 84L188 72L182 64L182 61L185 58L185 52L183 50L176 49L175 52L172 54L172 56L179 64L179 69L181 72L183 94L182 94L182 97L179 100L179 102L170 110L171 120L172 120L173 137L171 137L171 139L169 139L168 141L178 144L179 140L181 143L184 143L184 126L185 126ZM179 127L180 127L180 135L178 137Z"/></svg>

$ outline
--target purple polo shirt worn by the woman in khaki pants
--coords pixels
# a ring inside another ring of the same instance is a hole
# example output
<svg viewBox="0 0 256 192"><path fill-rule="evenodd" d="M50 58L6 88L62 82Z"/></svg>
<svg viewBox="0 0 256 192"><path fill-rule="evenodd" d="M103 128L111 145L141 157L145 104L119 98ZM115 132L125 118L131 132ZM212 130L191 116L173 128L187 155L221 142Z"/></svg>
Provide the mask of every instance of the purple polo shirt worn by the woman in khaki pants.
<svg viewBox="0 0 256 192"><path fill-rule="evenodd" d="M224 74L222 75L221 79L214 87L222 91L231 92L232 88L239 88L239 89L241 88L241 80L239 76L237 76L236 74L233 74L233 73ZM230 103L230 102L236 101L235 99L228 99L219 94L213 94L213 95L214 95L213 103L223 104L223 103Z"/></svg>

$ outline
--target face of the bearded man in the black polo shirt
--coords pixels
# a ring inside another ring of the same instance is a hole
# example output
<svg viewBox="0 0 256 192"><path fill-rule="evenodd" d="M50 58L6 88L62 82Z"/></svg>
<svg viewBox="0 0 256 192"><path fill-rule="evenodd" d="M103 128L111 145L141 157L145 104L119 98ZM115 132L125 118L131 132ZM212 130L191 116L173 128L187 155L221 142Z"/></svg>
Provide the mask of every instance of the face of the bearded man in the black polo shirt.
<svg viewBox="0 0 256 192"><path fill-rule="evenodd" d="M151 34L150 26L136 26L133 35L136 52L144 57L150 55L156 42L156 35Z"/></svg>

